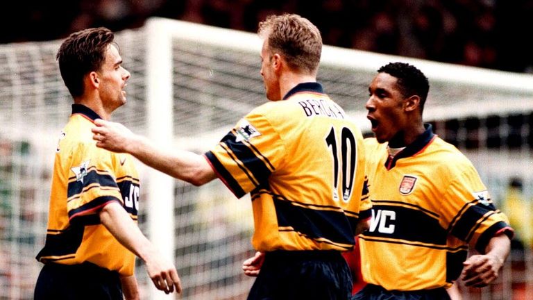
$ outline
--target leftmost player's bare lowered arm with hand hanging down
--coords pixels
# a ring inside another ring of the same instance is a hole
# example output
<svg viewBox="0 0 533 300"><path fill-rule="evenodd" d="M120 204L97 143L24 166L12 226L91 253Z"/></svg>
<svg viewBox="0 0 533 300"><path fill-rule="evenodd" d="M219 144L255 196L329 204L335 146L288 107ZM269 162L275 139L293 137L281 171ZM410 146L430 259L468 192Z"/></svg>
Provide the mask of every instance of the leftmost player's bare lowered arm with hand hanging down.
<svg viewBox="0 0 533 300"><path fill-rule="evenodd" d="M176 267L164 259L158 249L142 234L126 210L118 203L106 204L99 213L100 220L108 231L126 249L146 263L146 271L153 285L166 294L181 292L181 281Z"/></svg>

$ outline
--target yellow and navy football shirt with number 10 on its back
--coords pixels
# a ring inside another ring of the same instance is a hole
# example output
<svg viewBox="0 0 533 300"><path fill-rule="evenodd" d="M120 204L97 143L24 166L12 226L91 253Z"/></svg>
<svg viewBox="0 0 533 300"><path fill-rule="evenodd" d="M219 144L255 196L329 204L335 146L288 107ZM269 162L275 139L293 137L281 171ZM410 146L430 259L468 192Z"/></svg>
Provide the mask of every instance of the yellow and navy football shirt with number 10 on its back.
<svg viewBox="0 0 533 300"><path fill-rule="evenodd" d="M237 197L251 193L258 251L352 249L370 217L362 134L319 83L259 106L205 153Z"/></svg>

